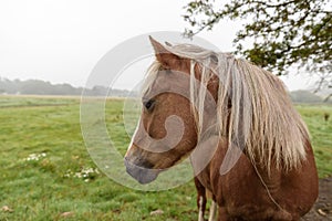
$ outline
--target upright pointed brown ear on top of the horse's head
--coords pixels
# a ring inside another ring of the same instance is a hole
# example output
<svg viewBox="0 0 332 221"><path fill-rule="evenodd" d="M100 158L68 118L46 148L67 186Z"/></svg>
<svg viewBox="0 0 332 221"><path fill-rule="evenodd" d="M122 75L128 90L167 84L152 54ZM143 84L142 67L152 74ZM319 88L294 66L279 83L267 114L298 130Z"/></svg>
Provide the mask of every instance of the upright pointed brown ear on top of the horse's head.
<svg viewBox="0 0 332 221"><path fill-rule="evenodd" d="M175 65L178 64L180 59L177 55L169 52L163 44L160 44L159 42L154 40L152 36L149 36L149 41L151 41L151 43L152 43L152 45L155 50L156 59L157 59L158 62L160 62L162 66L164 69L174 69L174 67L176 67Z"/></svg>

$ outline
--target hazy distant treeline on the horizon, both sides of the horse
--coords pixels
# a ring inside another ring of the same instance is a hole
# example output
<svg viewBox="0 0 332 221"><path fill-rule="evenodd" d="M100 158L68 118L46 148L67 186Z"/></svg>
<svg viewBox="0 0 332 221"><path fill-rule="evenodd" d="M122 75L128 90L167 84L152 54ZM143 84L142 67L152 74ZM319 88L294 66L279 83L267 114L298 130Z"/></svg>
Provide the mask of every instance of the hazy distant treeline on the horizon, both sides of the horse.
<svg viewBox="0 0 332 221"><path fill-rule="evenodd" d="M20 81L0 77L0 94L27 94L27 95L81 95L83 87L74 87L70 84L51 84L40 80ZM94 86L85 90L85 95L104 96L112 95L118 97L133 96L127 90L108 91L104 86ZM313 94L309 91L290 92L290 96L294 103L332 103L332 99L324 101L322 96Z"/></svg>

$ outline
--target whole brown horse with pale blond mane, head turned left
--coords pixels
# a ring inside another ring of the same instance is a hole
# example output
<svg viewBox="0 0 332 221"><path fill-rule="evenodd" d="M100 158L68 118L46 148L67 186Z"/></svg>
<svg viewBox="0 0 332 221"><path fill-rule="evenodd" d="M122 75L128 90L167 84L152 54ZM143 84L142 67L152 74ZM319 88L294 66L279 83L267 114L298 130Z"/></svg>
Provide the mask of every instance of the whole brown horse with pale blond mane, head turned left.
<svg viewBox="0 0 332 221"><path fill-rule="evenodd" d="M318 197L317 168L308 129L281 81L230 54L151 41L156 62L142 92L127 172L152 182L190 156L198 206L210 191L218 220L304 215Z"/></svg>

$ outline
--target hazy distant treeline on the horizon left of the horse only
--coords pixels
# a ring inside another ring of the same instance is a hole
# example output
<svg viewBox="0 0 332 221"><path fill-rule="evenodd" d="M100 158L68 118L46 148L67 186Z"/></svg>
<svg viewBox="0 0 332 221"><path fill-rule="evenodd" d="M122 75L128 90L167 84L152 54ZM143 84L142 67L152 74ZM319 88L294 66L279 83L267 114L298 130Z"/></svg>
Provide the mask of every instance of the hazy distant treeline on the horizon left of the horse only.
<svg viewBox="0 0 332 221"><path fill-rule="evenodd" d="M51 84L40 80L13 80L0 77L0 94L25 94L25 95L81 95L84 87L74 87L70 84ZM108 91L104 86L94 86L93 88L86 88L85 95L90 96L103 96L112 95L125 97L129 95L127 90L112 90Z"/></svg>

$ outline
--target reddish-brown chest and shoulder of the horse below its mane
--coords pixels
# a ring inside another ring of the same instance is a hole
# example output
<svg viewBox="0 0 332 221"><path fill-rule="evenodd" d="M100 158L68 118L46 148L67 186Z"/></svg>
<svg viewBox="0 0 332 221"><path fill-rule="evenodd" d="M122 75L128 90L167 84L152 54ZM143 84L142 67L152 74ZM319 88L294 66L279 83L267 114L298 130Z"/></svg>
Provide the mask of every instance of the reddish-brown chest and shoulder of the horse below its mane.
<svg viewBox="0 0 332 221"><path fill-rule="evenodd" d="M236 166L220 176L227 144L219 144L211 162L197 179L212 192L219 206L219 220L299 220L318 197L318 175L311 145L298 170L272 169L268 176L242 154ZM266 185L266 187L264 187ZM268 190L267 190L268 189ZM271 197L269 197L269 193Z"/></svg>

